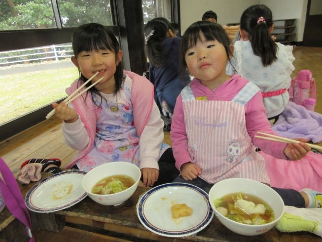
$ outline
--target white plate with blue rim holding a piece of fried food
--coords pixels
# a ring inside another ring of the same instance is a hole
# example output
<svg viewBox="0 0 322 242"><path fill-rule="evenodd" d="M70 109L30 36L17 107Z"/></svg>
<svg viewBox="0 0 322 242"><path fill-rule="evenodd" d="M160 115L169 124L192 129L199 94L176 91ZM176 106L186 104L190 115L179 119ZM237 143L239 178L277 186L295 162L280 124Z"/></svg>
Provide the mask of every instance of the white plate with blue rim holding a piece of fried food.
<svg viewBox="0 0 322 242"><path fill-rule="evenodd" d="M208 194L191 184L168 183L146 192L137 215L149 231L166 237L196 234L213 219Z"/></svg>

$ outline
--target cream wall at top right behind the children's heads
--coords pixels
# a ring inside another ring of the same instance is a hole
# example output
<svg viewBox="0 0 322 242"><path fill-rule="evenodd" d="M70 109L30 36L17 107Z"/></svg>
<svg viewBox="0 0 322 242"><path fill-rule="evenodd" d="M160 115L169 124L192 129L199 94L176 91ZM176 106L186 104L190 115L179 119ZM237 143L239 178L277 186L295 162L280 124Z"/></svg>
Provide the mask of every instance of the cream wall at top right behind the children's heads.
<svg viewBox="0 0 322 242"><path fill-rule="evenodd" d="M273 19L296 18L295 41L303 40L308 0L180 0L181 35L202 15L213 10L218 24L238 23L244 10L254 4L265 4L273 13Z"/></svg>

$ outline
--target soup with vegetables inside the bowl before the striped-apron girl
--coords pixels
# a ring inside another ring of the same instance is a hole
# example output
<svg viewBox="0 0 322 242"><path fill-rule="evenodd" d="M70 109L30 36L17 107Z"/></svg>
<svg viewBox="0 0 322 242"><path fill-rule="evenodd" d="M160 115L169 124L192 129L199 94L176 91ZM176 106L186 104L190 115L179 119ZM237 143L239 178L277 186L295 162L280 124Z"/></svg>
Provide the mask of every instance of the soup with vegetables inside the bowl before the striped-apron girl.
<svg viewBox="0 0 322 242"><path fill-rule="evenodd" d="M250 194L231 193L216 199L214 203L219 213L239 223L259 225L274 221L272 207Z"/></svg>

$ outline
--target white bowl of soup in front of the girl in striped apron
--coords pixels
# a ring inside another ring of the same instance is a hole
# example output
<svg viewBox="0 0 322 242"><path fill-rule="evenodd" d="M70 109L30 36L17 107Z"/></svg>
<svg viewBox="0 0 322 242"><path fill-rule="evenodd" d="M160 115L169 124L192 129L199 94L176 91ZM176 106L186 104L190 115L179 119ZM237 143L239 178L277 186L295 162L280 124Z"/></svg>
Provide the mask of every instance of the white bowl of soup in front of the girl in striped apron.
<svg viewBox="0 0 322 242"><path fill-rule="evenodd" d="M209 192L209 200L219 221L240 235L263 234L284 214L284 202L277 192L245 178L217 182Z"/></svg>

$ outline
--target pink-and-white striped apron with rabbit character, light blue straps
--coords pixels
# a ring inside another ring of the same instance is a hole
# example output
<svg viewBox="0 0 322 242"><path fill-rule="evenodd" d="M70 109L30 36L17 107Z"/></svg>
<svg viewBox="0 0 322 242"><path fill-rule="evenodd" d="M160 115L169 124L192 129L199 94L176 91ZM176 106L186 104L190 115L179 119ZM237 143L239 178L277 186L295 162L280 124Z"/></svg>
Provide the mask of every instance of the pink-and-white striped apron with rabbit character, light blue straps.
<svg viewBox="0 0 322 242"><path fill-rule="evenodd" d="M248 82L232 101L195 98L190 85L181 91L188 152L208 183L243 177L270 184L265 160L246 129L245 105L258 91Z"/></svg>

